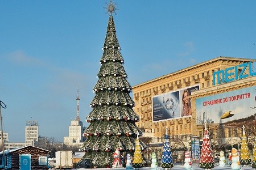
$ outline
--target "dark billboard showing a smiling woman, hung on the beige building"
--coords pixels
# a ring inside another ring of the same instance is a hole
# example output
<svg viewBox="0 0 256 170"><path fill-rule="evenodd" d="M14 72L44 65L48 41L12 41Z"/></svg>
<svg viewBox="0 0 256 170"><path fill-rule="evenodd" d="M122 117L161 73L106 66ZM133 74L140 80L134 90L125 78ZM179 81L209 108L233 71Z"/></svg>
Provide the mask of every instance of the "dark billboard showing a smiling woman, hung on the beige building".
<svg viewBox="0 0 256 170"><path fill-rule="evenodd" d="M191 92L199 90L199 88L199 84L196 84L177 91L153 96L153 122L191 116L191 100L189 95L191 95Z"/></svg>

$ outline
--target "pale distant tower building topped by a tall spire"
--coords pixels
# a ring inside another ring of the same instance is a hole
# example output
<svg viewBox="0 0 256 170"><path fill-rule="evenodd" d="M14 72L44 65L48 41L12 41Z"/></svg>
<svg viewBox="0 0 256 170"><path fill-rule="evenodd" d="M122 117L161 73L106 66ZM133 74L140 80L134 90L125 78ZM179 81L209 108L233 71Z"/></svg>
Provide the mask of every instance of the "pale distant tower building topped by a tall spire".
<svg viewBox="0 0 256 170"><path fill-rule="evenodd" d="M85 138L82 136L84 133L85 127L82 126L82 121L79 117L79 90L77 90L76 96L76 118L75 120L71 121L71 125L68 128L68 137L64 137L64 144L65 145L83 145Z"/></svg>

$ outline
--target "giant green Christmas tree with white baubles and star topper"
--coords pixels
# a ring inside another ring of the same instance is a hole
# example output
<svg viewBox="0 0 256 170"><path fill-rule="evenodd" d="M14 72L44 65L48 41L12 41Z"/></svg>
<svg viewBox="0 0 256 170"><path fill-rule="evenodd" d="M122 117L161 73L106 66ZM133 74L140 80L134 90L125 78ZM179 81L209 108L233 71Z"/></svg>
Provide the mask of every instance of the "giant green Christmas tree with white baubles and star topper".
<svg viewBox="0 0 256 170"><path fill-rule="evenodd" d="M133 111L134 101L130 97L131 86L123 67L123 57L115 35L112 13L115 6L110 1L110 13L98 81L93 88L96 94L90 103L92 112L86 117L89 122L84 131L87 138L80 150L85 151L78 165L83 168L109 168L113 164L113 153L118 149L122 155L134 155L137 133L142 131L135 125L139 121ZM146 146L141 143L143 148Z"/></svg>

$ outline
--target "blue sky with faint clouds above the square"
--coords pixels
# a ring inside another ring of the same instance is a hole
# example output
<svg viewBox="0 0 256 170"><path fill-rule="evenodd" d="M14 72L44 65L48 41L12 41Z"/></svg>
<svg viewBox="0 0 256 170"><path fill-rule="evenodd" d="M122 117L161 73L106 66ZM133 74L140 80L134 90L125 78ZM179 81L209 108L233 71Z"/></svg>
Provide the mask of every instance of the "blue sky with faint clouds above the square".
<svg viewBox="0 0 256 170"><path fill-rule="evenodd" d="M85 124L100 69L108 1L0 0L3 130L24 142L27 120L63 142ZM114 16L131 86L219 56L256 58L256 1L121 1ZM32 118L31 118L32 117Z"/></svg>

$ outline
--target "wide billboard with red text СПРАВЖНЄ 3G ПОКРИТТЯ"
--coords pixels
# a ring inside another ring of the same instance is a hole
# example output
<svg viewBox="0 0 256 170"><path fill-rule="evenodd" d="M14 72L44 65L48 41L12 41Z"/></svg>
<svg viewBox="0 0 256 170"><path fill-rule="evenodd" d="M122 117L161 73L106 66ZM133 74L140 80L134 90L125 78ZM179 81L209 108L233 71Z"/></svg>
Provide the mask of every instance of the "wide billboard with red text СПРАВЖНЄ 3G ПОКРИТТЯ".
<svg viewBox="0 0 256 170"><path fill-rule="evenodd" d="M196 99L197 124L223 124L256 113L256 86Z"/></svg>

